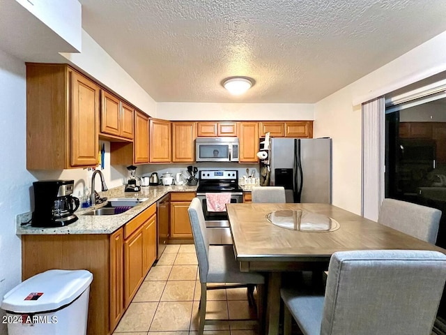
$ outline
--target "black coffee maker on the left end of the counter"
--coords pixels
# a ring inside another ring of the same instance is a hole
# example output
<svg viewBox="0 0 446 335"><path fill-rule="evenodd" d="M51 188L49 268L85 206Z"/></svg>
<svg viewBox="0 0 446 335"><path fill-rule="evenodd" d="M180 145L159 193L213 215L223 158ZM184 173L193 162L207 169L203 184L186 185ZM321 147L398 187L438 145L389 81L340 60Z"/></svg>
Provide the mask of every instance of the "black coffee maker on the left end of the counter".
<svg viewBox="0 0 446 335"><path fill-rule="evenodd" d="M79 199L72 197L74 180L43 180L33 182L33 227L61 227L77 220L74 212Z"/></svg>

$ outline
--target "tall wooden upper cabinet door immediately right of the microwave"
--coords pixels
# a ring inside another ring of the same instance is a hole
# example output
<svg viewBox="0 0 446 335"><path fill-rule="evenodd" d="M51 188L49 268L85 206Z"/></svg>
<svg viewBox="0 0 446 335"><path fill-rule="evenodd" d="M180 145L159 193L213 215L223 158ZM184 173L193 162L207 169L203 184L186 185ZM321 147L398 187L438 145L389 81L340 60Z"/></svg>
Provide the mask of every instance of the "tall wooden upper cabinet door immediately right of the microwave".
<svg viewBox="0 0 446 335"><path fill-rule="evenodd" d="M240 163L256 163L259 151L259 124L240 122Z"/></svg>

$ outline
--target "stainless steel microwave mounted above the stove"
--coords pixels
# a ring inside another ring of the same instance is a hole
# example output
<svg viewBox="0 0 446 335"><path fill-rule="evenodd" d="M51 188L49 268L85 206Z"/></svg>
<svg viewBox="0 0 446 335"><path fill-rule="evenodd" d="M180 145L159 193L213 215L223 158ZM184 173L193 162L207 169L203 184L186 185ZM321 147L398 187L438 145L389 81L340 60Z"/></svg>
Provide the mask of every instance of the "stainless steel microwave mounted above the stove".
<svg viewBox="0 0 446 335"><path fill-rule="evenodd" d="M238 162L238 137L199 137L195 144L197 162Z"/></svg>

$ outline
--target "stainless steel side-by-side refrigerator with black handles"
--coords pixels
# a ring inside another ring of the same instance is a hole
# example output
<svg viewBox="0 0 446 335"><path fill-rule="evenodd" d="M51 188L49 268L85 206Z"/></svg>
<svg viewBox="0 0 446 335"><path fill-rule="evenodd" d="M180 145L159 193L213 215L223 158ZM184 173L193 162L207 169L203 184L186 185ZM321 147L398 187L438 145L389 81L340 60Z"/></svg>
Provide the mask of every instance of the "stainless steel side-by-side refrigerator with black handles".
<svg viewBox="0 0 446 335"><path fill-rule="evenodd" d="M284 186L286 202L332 202L332 139L271 138L270 185Z"/></svg>

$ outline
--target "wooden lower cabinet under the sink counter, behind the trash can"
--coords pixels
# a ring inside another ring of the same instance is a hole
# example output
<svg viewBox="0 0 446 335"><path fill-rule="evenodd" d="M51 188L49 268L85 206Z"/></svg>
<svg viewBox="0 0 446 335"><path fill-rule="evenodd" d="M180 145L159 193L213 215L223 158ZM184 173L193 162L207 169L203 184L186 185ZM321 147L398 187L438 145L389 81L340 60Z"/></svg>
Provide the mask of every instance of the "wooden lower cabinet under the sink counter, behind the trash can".
<svg viewBox="0 0 446 335"><path fill-rule="evenodd" d="M22 235L22 280L49 269L91 271L87 335L109 335L153 265L156 246L156 204L112 234Z"/></svg>

